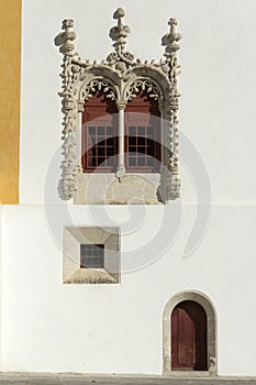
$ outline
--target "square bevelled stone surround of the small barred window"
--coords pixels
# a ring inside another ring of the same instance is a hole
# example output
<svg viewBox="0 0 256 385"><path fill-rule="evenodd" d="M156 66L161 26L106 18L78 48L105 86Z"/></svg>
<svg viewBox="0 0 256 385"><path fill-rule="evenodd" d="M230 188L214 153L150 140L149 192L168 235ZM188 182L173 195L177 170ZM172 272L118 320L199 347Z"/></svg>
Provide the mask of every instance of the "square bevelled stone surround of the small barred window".
<svg viewBox="0 0 256 385"><path fill-rule="evenodd" d="M104 267L80 267L80 245L103 244ZM119 284L119 228L66 227L63 232L64 284Z"/></svg>

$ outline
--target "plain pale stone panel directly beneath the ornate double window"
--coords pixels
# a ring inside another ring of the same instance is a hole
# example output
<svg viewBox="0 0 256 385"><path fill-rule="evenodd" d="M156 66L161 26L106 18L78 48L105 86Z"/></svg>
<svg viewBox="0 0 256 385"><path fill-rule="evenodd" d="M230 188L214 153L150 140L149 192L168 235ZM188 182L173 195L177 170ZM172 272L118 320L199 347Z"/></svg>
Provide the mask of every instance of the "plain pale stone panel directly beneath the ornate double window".
<svg viewBox="0 0 256 385"><path fill-rule="evenodd" d="M79 174L76 205L160 205L159 174Z"/></svg>

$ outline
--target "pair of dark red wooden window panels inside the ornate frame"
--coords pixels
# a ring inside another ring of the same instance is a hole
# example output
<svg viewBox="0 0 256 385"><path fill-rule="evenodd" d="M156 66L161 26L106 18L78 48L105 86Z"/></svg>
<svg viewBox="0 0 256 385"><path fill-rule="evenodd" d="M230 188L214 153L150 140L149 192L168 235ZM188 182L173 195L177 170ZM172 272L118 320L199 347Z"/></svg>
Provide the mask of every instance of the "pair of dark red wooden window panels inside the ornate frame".
<svg viewBox="0 0 256 385"><path fill-rule="evenodd" d="M157 100L141 92L124 113L124 163L129 173L156 173L162 158ZM97 92L85 105L81 164L86 173L114 173L118 166L119 128L114 101Z"/></svg>

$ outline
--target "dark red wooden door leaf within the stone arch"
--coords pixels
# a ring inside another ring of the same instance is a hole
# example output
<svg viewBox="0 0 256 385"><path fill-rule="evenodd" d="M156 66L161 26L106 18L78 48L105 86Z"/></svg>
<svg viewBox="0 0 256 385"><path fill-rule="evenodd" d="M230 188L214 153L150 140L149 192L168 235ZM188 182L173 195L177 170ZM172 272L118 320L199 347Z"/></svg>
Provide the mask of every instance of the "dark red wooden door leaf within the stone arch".
<svg viewBox="0 0 256 385"><path fill-rule="evenodd" d="M171 314L171 369L207 371L207 315L194 301L180 302Z"/></svg>

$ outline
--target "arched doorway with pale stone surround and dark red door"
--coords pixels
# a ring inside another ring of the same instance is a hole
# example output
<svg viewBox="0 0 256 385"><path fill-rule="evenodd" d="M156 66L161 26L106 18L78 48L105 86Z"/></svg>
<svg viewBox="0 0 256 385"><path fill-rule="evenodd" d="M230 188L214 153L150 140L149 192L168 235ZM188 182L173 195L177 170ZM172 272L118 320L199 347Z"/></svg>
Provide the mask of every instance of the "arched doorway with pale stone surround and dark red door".
<svg viewBox="0 0 256 385"><path fill-rule="evenodd" d="M192 290L171 297L163 315L163 373L185 375L188 371L191 376L198 371L218 374L214 306L204 294Z"/></svg>

